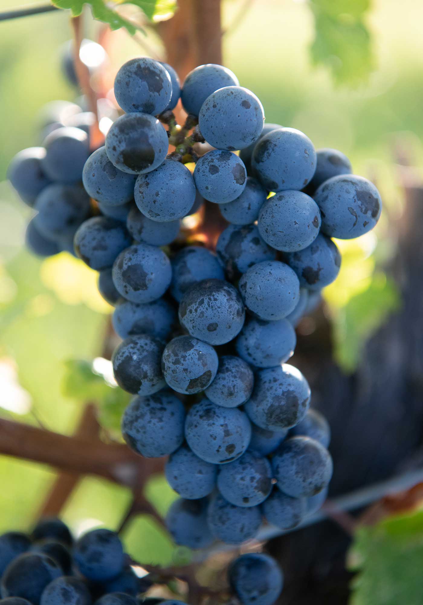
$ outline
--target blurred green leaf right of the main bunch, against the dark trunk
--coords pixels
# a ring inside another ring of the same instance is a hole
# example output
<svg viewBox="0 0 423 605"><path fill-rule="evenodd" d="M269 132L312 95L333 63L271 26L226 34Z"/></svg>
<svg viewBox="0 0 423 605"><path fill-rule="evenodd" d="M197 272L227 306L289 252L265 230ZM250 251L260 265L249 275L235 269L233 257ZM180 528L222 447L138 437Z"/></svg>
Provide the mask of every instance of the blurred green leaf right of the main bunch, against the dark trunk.
<svg viewBox="0 0 423 605"><path fill-rule="evenodd" d="M365 342L399 304L395 282L384 273L375 273L366 289L334 313L334 357L344 371L355 370Z"/></svg>

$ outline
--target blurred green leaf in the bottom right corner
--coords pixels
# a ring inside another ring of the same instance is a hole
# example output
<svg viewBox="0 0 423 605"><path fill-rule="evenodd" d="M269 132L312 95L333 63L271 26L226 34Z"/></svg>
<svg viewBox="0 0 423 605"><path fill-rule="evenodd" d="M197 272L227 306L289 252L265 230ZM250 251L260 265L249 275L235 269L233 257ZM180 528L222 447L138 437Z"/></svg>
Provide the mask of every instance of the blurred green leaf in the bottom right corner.
<svg viewBox="0 0 423 605"><path fill-rule="evenodd" d="M421 605L423 511L358 529L347 564L358 572L350 605Z"/></svg>

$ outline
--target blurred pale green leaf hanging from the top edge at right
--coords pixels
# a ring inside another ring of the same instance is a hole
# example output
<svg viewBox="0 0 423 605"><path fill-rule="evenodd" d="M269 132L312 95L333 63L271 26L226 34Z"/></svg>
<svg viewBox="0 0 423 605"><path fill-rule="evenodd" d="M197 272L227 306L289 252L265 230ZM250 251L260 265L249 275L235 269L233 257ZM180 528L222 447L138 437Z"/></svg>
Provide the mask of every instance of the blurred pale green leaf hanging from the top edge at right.
<svg viewBox="0 0 423 605"><path fill-rule="evenodd" d="M370 32L363 22L369 0L313 0L315 38L311 45L315 65L326 65L336 83L357 86L374 67Z"/></svg>

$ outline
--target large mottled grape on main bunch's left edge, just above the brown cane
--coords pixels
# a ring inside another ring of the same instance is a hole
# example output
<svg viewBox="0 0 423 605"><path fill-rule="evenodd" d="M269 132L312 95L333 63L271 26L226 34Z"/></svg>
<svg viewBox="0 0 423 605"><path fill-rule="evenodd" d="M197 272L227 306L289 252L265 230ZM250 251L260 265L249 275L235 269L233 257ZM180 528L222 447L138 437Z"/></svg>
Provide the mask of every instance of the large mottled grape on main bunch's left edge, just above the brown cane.
<svg viewBox="0 0 423 605"><path fill-rule="evenodd" d="M168 456L184 441L184 420L184 405L172 391L137 396L123 413L123 439L146 458Z"/></svg>

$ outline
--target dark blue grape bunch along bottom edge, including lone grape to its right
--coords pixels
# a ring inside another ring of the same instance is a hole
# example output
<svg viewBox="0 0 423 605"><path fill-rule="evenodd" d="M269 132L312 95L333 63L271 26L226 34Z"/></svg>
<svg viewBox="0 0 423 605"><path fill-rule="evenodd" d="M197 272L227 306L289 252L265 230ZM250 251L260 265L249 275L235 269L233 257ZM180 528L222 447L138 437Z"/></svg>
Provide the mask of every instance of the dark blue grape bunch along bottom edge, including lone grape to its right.
<svg viewBox="0 0 423 605"><path fill-rule="evenodd" d="M0 535L0 605L184 605L149 596L155 581L160 577L132 563L109 529L74 540L65 523L47 517L30 534ZM242 605L271 605L283 574L269 555L251 553L232 561L228 582Z"/></svg>

